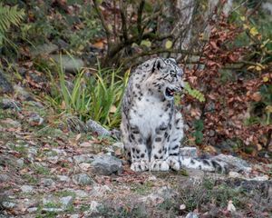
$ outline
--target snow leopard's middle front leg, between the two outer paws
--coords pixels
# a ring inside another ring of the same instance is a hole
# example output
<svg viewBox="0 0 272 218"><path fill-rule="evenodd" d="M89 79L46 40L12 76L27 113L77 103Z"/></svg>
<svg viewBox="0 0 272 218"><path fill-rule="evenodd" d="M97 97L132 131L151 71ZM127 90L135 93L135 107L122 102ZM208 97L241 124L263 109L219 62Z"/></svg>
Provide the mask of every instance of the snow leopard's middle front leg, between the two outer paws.
<svg viewBox="0 0 272 218"><path fill-rule="evenodd" d="M156 129L156 135L153 138L151 147L151 171L168 171L169 163L167 163L169 150L169 134L168 128L159 127Z"/></svg>

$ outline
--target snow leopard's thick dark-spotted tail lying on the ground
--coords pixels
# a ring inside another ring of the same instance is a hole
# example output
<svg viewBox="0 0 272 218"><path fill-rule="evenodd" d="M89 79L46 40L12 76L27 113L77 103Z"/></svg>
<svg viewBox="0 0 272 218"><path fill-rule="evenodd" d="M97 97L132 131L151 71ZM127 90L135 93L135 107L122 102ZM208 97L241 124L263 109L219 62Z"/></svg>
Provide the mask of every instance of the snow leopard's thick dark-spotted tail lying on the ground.
<svg viewBox="0 0 272 218"><path fill-rule="evenodd" d="M216 158L192 158L180 156L181 166L208 172L228 173L228 163Z"/></svg>

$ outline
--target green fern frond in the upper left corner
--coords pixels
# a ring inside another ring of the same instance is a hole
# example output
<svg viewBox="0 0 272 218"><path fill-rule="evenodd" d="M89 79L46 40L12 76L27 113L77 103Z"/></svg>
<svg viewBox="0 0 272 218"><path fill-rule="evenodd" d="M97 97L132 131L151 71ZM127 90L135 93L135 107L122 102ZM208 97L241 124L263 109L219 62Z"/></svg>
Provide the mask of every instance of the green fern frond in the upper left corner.
<svg viewBox="0 0 272 218"><path fill-rule="evenodd" d="M24 18L24 10L19 10L17 5L8 6L0 3L0 46L3 45L4 41L12 44L5 33L9 30L11 25L19 25Z"/></svg>

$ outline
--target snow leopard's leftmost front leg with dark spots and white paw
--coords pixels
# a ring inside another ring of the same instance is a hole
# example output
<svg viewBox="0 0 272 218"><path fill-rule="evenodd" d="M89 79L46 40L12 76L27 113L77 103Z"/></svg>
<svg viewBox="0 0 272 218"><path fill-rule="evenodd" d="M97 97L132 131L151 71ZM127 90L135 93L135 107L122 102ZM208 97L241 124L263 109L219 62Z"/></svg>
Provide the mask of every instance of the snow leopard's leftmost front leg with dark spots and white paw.
<svg viewBox="0 0 272 218"><path fill-rule="evenodd" d="M140 133L139 127L131 127L129 133L129 141L131 143L131 170L135 172L149 170L147 145Z"/></svg>

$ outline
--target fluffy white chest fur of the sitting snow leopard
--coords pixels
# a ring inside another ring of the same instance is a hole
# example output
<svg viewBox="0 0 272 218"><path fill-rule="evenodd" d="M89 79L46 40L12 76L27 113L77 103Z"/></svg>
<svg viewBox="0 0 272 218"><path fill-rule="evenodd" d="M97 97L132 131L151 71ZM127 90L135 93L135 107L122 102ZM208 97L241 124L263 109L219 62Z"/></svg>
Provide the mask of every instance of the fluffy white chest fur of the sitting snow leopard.
<svg viewBox="0 0 272 218"><path fill-rule="evenodd" d="M160 102L151 95L143 95L130 110L131 126L138 126L144 137L156 134L156 129L167 128L171 122L170 102Z"/></svg>

